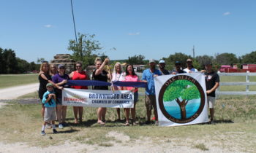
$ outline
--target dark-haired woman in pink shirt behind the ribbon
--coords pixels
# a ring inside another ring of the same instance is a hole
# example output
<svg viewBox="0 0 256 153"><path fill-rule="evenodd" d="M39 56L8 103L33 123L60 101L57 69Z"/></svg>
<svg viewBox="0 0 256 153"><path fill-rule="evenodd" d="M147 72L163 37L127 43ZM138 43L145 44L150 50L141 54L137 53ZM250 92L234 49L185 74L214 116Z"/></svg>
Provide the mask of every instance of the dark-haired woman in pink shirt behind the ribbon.
<svg viewBox="0 0 256 153"><path fill-rule="evenodd" d="M133 69L133 66L128 64L126 68L126 74L125 76L125 81L126 82L138 82L140 81L137 74L135 74L135 71ZM136 125L135 119L136 119L136 111L135 111L135 106L138 101L138 87L126 87L126 90L130 90L134 93L134 107L131 109L131 114L132 114L132 125ZM127 122L124 125L129 125L129 110L130 109L124 109L125 111L125 117L127 119Z"/></svg>

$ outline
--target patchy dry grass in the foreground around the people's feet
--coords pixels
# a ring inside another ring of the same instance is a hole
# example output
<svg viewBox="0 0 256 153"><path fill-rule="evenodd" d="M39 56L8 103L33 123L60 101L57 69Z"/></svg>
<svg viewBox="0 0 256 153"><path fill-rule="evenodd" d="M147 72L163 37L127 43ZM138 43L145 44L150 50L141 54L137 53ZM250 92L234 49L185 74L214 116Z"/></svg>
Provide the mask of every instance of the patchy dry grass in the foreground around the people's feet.
<svg viewBox="0 0 256 153"><path fill-rule="evenodd" d="M19 104L12 101L10 105L2 106L0 111L0 142L25 142L31 146L51 146L69 141L98 146L113 146L121 141L108 136L110 132L123 133L131 141L148 138L154 144L176 143L208 150L214 147L228 149L230 152L253 152L256 150L256 103L254 99L219 98L216 106L216 125L188 125L181 127L157 127L145 125L146 108L143 96L137 106L137 126L126 127L124 122L115 122L116 109L108 109L107 123L104 127L97 125L97 108L85 108L83 123L73 123L72 107L68 107L68 127L53 135L46 129L46 136L40 135L42 117L40 104ZM121 109L122 119L124 111ZM49 136L52 137L49 140ZM184 143L185 142L185 143ZM126 145L124 143L124 145Z"/></svg>

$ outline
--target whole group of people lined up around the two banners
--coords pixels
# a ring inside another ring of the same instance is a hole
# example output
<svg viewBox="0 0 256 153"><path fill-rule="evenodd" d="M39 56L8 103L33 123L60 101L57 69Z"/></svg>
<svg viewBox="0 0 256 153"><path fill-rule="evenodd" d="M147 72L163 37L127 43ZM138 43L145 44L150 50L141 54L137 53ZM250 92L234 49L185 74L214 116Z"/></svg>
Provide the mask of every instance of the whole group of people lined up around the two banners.
<svg viewBox="0 0 256 153"><path fill-rule="evenodd" d="M155 124L158 125L157 116L157 102L155 95L154 77L167 74L182 74L182 73L193 73L197 72L197 69L192 65L192 59L187 59L187 68L181 68L181 62L176 61L175 69L173 71L167 71L165 69L165 60L159 60L159 69L156 68L157 63L151 59L148 62L149 68L143 71L141 80L138 75L135 74L132 64L127 64L123 71L121 63L117 62L114 65L113 72L105 71L105 66L108 66L109 59L101 60L96 58L94 60L95 70L92 73L94 80L103 82L115 82L115 81L127 81L127 82L147 82L145 104L146 104L146 124L151 123L151 111L154 109L154 120ZM214 123L214 102L215 102L215 90L219 87L219 76L212 69L212 63L206 63L206 70L203 72L206 76L206 93L207 101L210 108L211 123ZM39 72L39 98L42 101L42 117L44 119L42 125L41 134L45 135L45 127L50 126L53 128L53 133L57 133L55 127L55 120L57 118L59 122L59 128L63 128L67 123L65 122L67 114L67 106L62 105L61 101L61 90L63 87L69 87L67 80L86 80L90 79L86 71L83 71L82 63L78 62L75 64L75 71L71 74L65 74L65 66L60 64L49 65L48 62L42 62ZM72 86L75 89L88 89L86 86ZM137 87L118 87L112 86L112 90L130 90L134 93L134 107L132 109L124 109L126 121L124 125L129 125L129 114L132 116L132 125L136 125L136 103L138 102L138 88ZM108 90L108 86L94 86L93 90ZM73 106L75 123L83 121L83 107ZM116 109L118 120L121 120L120 109ZM99 107L97 109L97 123L99 125L105 125L105 115L107 109Z"/></svg>

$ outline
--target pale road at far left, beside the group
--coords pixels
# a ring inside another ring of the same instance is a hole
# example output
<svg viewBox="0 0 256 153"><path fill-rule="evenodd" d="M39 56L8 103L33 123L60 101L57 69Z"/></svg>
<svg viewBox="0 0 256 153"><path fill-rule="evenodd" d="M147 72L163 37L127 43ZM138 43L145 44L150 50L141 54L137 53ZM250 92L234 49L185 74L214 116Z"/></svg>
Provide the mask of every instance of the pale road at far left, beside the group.
<svg viewBox="0 0 256 153"><path fill-rule="evenodd" d="M20 95L26 95L28 93L34 93L39 88L39 83L20 85L16 87L8 87L0 89L0 99L15 99Z"/></svg>

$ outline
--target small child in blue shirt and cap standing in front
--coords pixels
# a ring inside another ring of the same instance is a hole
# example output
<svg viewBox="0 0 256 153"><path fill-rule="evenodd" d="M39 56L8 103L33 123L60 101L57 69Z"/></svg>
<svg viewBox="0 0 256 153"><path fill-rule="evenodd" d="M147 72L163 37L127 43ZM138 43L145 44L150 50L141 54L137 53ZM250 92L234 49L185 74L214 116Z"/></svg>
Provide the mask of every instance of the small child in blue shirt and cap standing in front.
<svg viewBox="0 0 256 153"><path fill-rule="evenodd" d="M53 127L53 133L57 133L54 122L56 120L56 95L53 91L53 84L48 83L46 88L47 91L42 96L42 103L45 105L45 116L41 131L42 136L45 136L45 126L50 123Z"/></svg>

